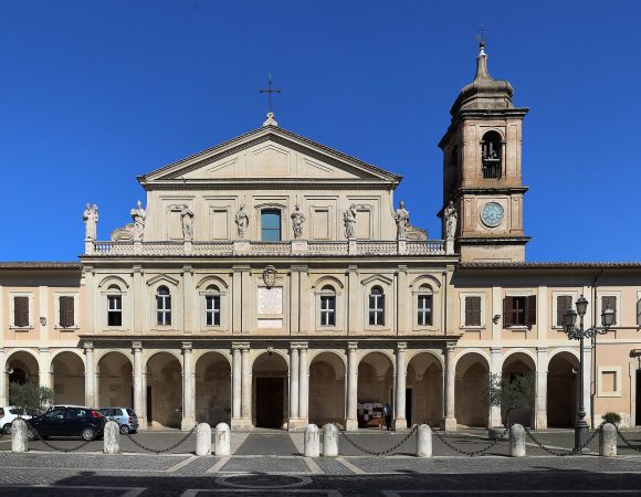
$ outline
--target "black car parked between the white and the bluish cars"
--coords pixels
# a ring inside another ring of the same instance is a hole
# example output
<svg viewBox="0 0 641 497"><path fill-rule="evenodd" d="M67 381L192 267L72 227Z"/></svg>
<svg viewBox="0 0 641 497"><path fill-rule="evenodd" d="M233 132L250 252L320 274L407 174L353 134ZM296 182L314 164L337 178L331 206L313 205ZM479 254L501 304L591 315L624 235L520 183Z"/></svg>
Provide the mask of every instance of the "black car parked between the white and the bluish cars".
<svg viewBox="0 0 641 497"><path fill-rule="evenodd" d="M82 436L83 440L94 440L103 435L105 416L91 408L57 408L40 416L27 421L30 425L27 435L29 440L38 435L49 436Z"/></svg>

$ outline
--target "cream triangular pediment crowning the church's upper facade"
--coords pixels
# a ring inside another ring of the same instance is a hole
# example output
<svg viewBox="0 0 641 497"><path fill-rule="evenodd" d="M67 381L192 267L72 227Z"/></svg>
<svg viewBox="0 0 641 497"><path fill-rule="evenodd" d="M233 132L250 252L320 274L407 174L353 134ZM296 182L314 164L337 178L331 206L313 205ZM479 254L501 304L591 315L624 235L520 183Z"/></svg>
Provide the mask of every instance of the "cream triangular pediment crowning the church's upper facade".
<svg viewBox="0 0 641 497"><path fill-rule="evenodd" d="M400 177L276 126L263 126L138 178L145 188L244 181L378 182Z"/></svg>

